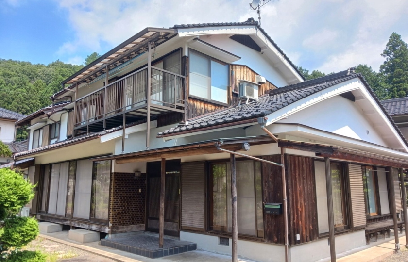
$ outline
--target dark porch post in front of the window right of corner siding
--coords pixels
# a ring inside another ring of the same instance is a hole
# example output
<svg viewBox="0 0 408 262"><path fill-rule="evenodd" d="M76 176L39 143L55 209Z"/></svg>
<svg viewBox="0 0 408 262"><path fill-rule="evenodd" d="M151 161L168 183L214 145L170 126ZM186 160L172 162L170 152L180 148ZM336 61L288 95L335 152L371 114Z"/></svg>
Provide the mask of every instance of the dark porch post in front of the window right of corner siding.
<svg viewBox="0 0 408 262"><path fill-rule="evenodd" d="M326 167L326 193L327 193L327 214L329 217L329 243L330 243L330 261L336 262L336 246L334 238L334 216L333 216L333 195L332 195L332 180L330 169L330 158L324 158Z"/></svg>

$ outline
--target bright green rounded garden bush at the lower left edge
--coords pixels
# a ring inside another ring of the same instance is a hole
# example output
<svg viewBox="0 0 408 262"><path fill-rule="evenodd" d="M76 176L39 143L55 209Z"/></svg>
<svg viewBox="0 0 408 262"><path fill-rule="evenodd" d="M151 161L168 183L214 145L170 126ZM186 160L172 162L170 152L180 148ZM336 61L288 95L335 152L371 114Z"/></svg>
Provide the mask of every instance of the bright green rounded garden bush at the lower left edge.
<svg viewBox="0 0 408 262"><path fill-rule="evenodd" d="M18 217L34 197L34 186L11 169L0 169L0 261L45 262L45 256L20 248L34 240L39 231L33 217Z"/></svg>

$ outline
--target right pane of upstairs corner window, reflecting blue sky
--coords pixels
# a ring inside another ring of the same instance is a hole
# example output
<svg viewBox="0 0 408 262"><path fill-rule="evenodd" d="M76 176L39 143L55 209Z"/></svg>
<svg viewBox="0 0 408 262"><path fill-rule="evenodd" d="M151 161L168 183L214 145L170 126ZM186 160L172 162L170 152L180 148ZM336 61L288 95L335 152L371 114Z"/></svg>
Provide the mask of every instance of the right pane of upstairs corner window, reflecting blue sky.
<svg viewBox="0 0 408 262"><path fill-rule="evenodd" d="M228 103L228 65L211 61L211 99Z"/></svg>

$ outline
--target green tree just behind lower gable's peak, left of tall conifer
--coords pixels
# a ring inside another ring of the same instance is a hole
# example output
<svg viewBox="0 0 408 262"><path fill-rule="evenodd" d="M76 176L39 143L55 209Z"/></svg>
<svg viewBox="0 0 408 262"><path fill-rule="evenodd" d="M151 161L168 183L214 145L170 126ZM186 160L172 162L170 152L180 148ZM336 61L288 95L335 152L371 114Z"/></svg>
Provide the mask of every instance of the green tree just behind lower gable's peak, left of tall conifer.
<svg viewBox="0 0 408 262"><path fill-rule="evenodd" d="M361 73L368 83L368 85L374 90L375 95L380 99L387 98L387 89L388 86L384 82L384 79L381 74L375 72L371 66L367 65L357 65L355 66L356 73Z"/></svg>

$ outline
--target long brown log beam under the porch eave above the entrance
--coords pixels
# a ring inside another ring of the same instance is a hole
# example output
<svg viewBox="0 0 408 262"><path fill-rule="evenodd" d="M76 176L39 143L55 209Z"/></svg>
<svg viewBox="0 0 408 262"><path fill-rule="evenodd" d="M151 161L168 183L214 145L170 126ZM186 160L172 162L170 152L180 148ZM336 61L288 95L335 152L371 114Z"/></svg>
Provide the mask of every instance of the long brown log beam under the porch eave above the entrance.
<svg viewBox="0 0 408 262"><path fill-rule="evenodd" d="M242 146L240 144L239 145L226 145L222 148L231 150L231 151L242 150ZM160 159L160 158L174 158L174 157L196 156L196 155L215 154L215 153L222 153L222 152L220 152L216 147L211 146L211 147L206 147L202 149L197 148L197 149L189 149L189 150L182 150L182 151L176 151L176 152L162 152L162 153L156 153L156 154L146 155L146 156L134 156L134 157L129 157L129 158L122 158L122 159L117 159L116 164L151 161L151 160Z"/></svg>

